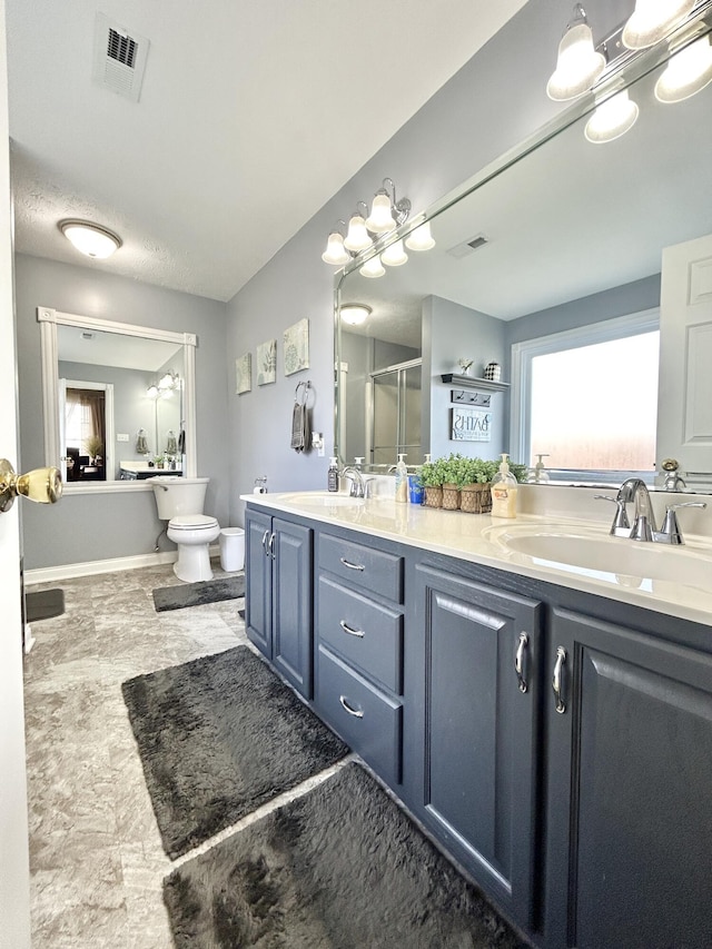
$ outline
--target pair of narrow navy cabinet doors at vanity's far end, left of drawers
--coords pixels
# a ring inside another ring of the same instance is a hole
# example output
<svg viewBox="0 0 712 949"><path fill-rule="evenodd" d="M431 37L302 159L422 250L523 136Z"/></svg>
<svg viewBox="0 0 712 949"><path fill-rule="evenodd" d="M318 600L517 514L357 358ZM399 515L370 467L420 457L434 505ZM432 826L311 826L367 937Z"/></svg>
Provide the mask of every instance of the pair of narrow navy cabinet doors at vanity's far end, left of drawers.
<svg viewBox="0 0 712 949"><path fill-rule="evenodd" d="M313 692L313 531L248 508L247 635L305 698Z"/></svg>

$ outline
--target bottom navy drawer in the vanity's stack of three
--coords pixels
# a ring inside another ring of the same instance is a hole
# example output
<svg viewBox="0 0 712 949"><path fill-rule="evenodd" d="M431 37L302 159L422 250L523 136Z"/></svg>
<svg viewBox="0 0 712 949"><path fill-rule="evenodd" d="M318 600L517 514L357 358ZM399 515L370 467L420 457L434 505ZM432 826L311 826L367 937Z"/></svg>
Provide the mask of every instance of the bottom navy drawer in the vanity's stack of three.
<svg viewBox="0 0 712 949"><path fill-rule="evenodd" d="M344 741L390 784L400 783L403 705L319 645L317 709Z"/></svg>

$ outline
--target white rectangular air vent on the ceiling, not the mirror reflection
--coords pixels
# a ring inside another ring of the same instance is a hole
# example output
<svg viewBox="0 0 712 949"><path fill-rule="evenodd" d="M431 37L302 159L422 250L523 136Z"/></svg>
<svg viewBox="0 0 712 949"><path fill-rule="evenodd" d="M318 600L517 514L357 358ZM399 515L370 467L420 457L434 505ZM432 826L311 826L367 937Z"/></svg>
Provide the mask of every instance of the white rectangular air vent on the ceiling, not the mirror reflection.
<svg viewBox="0 0 712 949"><path fill-rule="evenodd" d="M146 70L149 41L103 13L97 13L93 40L93 80L138 102Z"/></svg>

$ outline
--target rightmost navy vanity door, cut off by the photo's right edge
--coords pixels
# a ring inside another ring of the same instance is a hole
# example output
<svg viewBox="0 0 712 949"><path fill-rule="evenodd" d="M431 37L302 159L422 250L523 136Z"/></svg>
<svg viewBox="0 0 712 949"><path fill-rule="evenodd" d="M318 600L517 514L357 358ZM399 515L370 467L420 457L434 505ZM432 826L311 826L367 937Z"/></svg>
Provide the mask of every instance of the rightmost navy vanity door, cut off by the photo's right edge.
<svg viewBox="0 0 712 949"><path fill-rule="evenodd" d="M712 656L564 610L552 634L546 946L712 945Z"/></svg>

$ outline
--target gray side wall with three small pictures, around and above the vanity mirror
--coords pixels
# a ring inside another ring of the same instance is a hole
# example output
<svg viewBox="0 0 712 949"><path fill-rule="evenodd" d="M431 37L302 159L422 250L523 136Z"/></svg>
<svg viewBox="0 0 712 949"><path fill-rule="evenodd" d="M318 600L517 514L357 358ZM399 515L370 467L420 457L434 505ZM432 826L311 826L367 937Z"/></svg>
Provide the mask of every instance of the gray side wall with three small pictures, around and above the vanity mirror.
<svg viewBox="0 0 712 949"><path fill-rule="evenodd" d="M603 28L621 22L629 7L622 0L592 0L586 11ZM230 447L234 523L244 516L237 495L250 491L258 474L267 475L271 491L326 483L333 454L334 274L320 255L334 223L356 201L369 200L385 177L411 198L415 212L424 210L553 118L561 107L547 99L545 87L570 14L558 0L530 0L228 304L230 377L236 356L279 339L276 385L241 396L233 386L229 396L230 431L238 433ZM305 316L312 363L301 376L316 389L314 427L326 434L325 458L289 448L296 379L283 375L281 333Z"/></svg>

